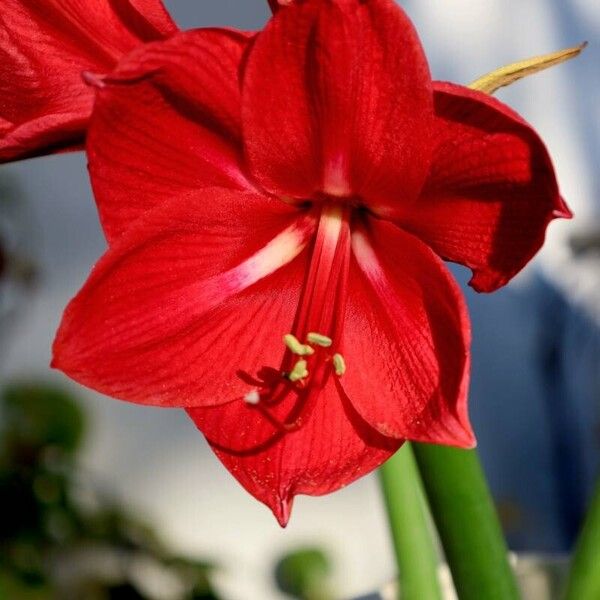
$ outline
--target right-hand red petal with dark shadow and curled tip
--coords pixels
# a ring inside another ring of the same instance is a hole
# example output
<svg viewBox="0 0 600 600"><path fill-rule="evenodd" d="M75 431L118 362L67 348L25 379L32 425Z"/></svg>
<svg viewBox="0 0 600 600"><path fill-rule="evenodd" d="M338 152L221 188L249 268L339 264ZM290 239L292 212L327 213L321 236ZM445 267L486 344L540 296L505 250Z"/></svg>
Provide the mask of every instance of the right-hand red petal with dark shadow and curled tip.
<svg viewBox="0 0 600 600"><path fill-rule="evenodd" d="M422 197L400 219L440 256L473 270L490 292L540 249L548 223L569 217L539 136L494 98L437 83L433 165Z"/></svg>

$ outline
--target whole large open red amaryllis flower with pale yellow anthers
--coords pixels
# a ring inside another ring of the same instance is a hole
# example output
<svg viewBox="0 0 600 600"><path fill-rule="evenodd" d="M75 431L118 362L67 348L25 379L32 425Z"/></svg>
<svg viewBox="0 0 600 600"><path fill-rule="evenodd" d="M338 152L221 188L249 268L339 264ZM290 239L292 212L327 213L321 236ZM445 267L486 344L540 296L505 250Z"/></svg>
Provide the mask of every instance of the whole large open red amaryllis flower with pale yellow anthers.
<svg viewBox="0 0 600 600"><path fill-rule="evenodd" d="M469 322L566 216L536 133L432 83L391 0L182 33L105 77L88 137L110 249L54 366L185 407L282 524L404 440L471 447ZM282 341L283 340L283 341Z"/></svg>

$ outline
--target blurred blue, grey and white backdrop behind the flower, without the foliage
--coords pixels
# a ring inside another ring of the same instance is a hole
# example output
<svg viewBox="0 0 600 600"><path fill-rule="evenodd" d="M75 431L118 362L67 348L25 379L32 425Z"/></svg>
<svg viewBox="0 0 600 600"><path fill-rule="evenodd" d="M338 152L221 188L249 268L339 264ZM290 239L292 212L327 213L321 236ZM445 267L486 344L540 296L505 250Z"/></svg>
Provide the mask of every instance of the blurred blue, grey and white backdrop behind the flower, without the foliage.
<svg viewBox="0 0 600 600"><path fill-rule="evenodd" d="M268 18L264 0L165 3L184 28L253 29ZM474 332L472 417L511 547L566 552L600 462L600 3L402 5L438 79L467 83L502 64L590 42L579 59L499 94L546 140L575 220L553 223L544 251L507 288L483 296L465 286ZM48 368L53 334L105 247L85 158L4 166L0 181L13 190L0 198L0 235L24 257L25 274L0 288L1 381L36 376L66 384ZM29 259L38 265L33 293ZM468 274L455 273L466 284ZM372 477L325 498L299 498L282 531L221 467L183 412L77 393L90 423L85 469L172 547L218 559L224 569L217 583L227 598L281 598L269 570L281 551L298 544L329 549L342 595L367 592L393 576Z"/></svg>

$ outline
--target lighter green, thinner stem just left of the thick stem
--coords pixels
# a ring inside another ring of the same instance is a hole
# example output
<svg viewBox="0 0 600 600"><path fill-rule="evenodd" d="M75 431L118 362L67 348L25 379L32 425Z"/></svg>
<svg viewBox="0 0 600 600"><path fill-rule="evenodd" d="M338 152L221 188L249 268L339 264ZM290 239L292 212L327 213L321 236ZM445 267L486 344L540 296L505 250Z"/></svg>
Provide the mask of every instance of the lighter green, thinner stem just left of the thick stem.
<svg viewBox="0 0 600 600"><path fill-rule="evenodd" d="M423 487L410 445L380 469L402 600L440 600L438 555Z"/></svg>

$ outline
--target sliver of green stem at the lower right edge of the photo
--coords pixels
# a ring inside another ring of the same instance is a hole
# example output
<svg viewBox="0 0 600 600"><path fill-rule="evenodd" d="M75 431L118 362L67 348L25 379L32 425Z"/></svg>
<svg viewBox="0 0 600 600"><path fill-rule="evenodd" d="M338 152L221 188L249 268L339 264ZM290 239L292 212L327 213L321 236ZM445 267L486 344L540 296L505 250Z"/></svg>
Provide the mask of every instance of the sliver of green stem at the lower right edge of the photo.
<svg viewBox="0 0 600 600"><path fill-rule="evenodd" d="M566 600L600 598L600 481L573 556Z"/></svg>

